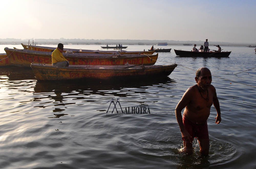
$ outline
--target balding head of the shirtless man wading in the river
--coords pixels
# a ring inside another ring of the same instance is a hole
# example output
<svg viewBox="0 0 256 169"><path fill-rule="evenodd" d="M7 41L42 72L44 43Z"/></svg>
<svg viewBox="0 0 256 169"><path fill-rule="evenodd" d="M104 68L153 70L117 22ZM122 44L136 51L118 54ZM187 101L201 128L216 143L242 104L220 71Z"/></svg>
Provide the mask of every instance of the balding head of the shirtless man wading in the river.
<svg viewBox="0 0 256 169"><path fill-rule="evenodd" d="M206 67L201 67L196 71L196 83L202 89L208 89L211 85L211 71Z"/></svg>

